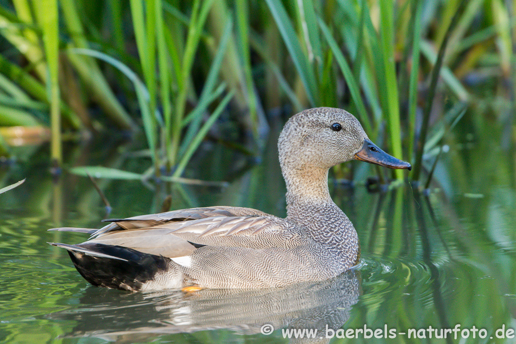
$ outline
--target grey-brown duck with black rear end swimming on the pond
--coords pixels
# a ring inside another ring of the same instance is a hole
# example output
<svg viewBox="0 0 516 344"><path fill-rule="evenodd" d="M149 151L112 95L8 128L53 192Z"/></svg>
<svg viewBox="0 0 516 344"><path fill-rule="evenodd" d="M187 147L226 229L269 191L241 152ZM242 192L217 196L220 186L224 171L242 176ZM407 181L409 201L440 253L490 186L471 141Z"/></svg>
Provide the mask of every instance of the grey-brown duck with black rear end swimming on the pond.
<svg viewBox="0 0 516 344"><path fill-rule="evenodd" d="M278 154L286 218L244 207L179 209L103 220L109 224L100 229L52 228L90 238L49 244L66 249L90 284L129 291L275 288L357 266L357 231L331 199L329 169L353 159L390 169L410 163L378 148L351 113L330 107L292 116Z"/></svg>

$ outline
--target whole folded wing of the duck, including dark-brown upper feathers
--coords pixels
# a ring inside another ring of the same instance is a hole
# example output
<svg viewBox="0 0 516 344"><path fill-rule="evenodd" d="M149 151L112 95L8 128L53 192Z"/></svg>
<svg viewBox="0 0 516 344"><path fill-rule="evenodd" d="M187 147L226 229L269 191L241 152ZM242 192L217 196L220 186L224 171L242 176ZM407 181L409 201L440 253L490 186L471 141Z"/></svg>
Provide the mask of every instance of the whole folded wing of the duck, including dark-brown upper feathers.
<svg viewBox="0 0 516 344"><path fill-rule="evenodd" d="M114 223L94 233L83 228L82 232L92 234L87 243L121 246L173 258L188 255L206 245L291 248L310 240L286 220L249 208L181 209L111 221Z"/></svg>

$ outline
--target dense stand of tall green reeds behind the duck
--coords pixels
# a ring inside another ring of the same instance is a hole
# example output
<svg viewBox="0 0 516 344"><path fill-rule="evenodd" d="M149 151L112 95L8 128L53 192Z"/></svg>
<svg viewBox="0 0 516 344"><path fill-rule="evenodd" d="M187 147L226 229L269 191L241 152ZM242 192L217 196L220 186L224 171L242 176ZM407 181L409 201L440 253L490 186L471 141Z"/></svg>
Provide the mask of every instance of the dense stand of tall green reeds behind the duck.
<svg viewBox="0 0 516 344"><path fill-rule="evenodd" d="M493 92L497 104L513 104L516 95L509 83L516 20L501 0L2 4L0 124L49 125L55 157L63 129L141 128L156 176L181 175L206 124L229 104L257 147L264 113L289 104L348 109L387 151L415 162L412 174L393 176L418 180L432 167L427 141L438 137L431 133L449 108L435 110L434 97L476 106L481 89L465 77L485 73L509 85ZM74 96L60 92L67 84L57 75L67 68ZM103 114L79 116L91 103ZM481 122L470 112L462 121ZM442 145L446 136L439 137Z"/></svg>

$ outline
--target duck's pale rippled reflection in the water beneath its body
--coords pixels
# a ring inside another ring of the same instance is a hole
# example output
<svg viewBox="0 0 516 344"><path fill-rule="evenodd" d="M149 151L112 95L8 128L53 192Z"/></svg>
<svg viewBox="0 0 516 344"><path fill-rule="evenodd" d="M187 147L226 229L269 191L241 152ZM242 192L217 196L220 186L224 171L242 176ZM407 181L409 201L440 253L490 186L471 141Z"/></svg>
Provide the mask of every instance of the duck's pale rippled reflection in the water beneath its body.
<svg viewBox="0 0 516 344"><path fill-rule="evenodd" d="M90 287L79 299L80 306L49 317L76 322L66 337L93 336L117 342L219 329L260 334L266 324L275 330L317 329L316 339L308 341L327 342L326 326L339 329L360 294L360 272L354 270L324 282L273 289L203 289L185 294L121 293ZM281 337L281 332L277 336Z"/></svg>

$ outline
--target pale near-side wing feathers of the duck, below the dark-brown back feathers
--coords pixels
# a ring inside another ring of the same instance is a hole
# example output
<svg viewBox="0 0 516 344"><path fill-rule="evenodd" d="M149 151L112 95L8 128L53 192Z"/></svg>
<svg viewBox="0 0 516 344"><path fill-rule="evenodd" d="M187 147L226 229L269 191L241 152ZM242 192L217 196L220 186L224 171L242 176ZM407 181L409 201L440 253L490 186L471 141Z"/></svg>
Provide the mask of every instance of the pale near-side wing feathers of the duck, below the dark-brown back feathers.
<svg viewBox="0 0 516 344"><path fill-rule="evenodd" d="M311 239L300 228L269 215L171 221L149 228L103 233L87 243L122 246L173 258L188 255L203 246L294 248L308 241Z"/></svg>

